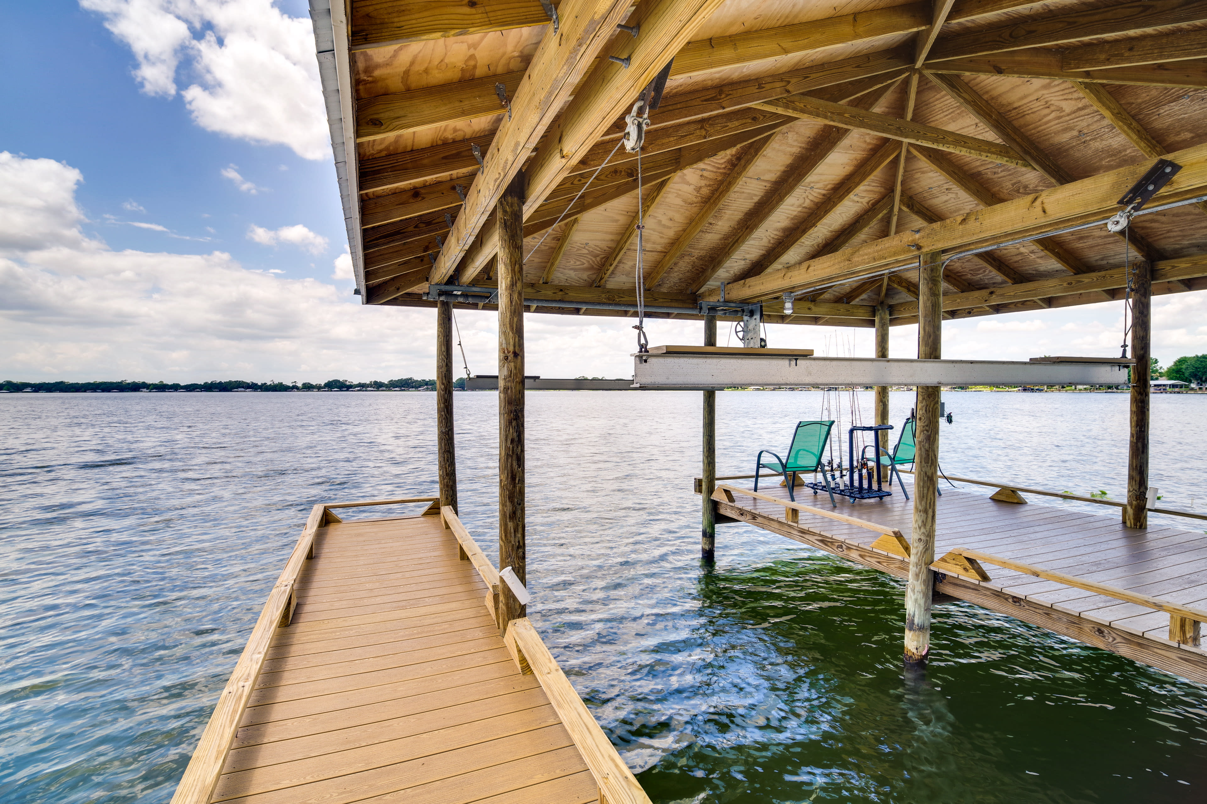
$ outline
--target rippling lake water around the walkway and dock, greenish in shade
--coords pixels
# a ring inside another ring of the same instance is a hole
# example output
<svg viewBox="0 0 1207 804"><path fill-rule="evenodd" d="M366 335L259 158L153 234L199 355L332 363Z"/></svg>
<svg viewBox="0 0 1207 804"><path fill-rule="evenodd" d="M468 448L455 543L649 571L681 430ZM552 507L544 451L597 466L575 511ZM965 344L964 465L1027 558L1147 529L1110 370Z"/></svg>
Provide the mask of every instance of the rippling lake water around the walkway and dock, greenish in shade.
<svg viewBox="0 0 1207 804"><path fill-rule="evenodd" d="M718 394L721 474L824 398ZM1126 394L944 399L949 474L1124 495ZM0 800L168 802L310 506L435 492L435 401L0 397ZM892 405L899 426L912 394ZM529 611L654 802L1207 800L1205 686L966 604L935 610L906 686L898 581L742 524L702 569L699 393L527 410ZM496 397L456 411L462 517L494 554ZM1162 505L1207 509L1205 418L1207 395L1154 398Z"/></svg>

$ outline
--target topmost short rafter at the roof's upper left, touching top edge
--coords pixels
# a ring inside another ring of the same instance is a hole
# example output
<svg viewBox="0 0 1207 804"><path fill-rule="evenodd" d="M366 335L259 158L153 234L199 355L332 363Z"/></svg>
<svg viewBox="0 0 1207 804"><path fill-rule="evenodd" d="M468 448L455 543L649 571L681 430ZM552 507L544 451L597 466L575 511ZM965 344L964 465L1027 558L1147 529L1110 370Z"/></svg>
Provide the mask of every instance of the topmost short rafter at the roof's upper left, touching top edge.
<svg viewBox="0 0 1207 804"><path fill-rule="evenodd" d="M541 4L530 0L356 0L351 4L349 45L352 51L365 51L548 22Z"/></svg>

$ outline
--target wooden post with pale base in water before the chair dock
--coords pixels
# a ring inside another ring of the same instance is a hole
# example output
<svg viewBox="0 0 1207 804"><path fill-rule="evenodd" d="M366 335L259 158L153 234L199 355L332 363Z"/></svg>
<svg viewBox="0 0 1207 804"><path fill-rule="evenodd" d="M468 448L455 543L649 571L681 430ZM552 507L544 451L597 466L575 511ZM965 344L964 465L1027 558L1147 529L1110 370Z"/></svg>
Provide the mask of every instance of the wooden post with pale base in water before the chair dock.
<svg viewBox="0 0 1207 804"><path fill-rule="evenodd" d="M917 288L917 357L943 357L943 254L922 254ZM917 452L914 462L914 523L909 585L905 587L905 663L922 664L931 650L931 597L934 593L934 520L939 491L939 386L919 386Z"/></svg>

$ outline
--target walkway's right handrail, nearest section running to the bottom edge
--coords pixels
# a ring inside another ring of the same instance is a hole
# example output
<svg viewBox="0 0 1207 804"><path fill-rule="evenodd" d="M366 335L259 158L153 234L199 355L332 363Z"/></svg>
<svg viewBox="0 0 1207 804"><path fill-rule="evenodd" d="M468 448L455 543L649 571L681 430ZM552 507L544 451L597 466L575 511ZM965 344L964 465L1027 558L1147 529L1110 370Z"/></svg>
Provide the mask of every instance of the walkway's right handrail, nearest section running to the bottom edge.
<svg viewBox="0 0 1207 804"><path fill-rule="evenodd" d="M507 635L521 653L541 688L548 696L561 724L570 733L575 747L595 777L600 790L600 802L607 804L651 804L632 771L620 759L612 741L595 722L583 699L575 692L570 679L561 671L558 661L546 647L527 617L507 624Z"/></svg>

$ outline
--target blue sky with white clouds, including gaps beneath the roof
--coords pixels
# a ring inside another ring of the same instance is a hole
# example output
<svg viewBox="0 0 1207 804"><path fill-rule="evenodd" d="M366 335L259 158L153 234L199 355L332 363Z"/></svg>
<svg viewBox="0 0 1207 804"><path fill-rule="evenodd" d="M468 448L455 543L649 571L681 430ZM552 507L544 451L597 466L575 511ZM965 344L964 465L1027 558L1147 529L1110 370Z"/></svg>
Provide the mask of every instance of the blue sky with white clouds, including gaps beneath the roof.
<svg viewBox="0 0 1207 804"><path fill-rule="evenodd" d="M351 295L304 2L42 0L7 12L0 377L432 376L432 311ZM530 374L631 374L631 321L526 321ZM1207 352L1205 322L1207 293L1159 298L1154 352ZM471 370L492 374L494 313L459 323ZM949 323L944 354L1114 356L1120 324L1120 303ZM701 335L696 322L649 330L653 344ZM891 340L894 356L916 354L915 328ZM865 329L771 327L769 341L873 350Z"/></svg>

